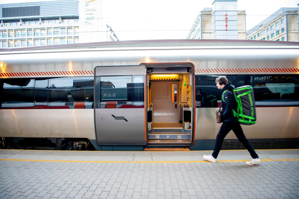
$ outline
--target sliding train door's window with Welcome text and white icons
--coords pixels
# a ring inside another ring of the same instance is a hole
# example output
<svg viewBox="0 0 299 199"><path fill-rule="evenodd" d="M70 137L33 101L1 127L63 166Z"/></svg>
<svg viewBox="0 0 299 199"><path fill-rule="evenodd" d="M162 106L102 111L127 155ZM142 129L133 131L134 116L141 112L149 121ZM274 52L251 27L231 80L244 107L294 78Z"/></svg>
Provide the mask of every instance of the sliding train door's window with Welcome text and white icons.
<svg viewBox="0 0 299 199"><path fill-rule="evenodd" d="M144 76L101 76L100 108L144 108Z"/></svg>

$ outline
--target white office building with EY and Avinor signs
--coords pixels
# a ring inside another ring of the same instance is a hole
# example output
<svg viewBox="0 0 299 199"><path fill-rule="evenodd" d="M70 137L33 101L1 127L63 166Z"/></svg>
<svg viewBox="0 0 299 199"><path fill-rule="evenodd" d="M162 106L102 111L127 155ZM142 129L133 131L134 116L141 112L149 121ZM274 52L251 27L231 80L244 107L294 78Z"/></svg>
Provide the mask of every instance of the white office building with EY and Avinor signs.
<svg viewBox="0 0 299 199"><path fill-rule="evenodd" d="M0 48L118 41L101 0L0 5Z"/></svg>

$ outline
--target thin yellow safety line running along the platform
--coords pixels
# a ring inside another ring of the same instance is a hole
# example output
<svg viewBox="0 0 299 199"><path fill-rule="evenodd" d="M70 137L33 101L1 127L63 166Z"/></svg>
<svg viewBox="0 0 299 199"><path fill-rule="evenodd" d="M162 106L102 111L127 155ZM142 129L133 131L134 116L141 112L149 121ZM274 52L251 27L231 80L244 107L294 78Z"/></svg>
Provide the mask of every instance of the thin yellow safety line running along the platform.
<svg viewBox="0 0 299 199"><path fill-rule="evenodd" d="M30 162L89 162L89 163L196 163L208 162L205 160L199 161L88 161L88 160L31 160L31 159L0 159L0 161L30 161ZM217 160L216 162L246 162L250 160ZM261 161L299 161L299 159L261 159Z"/></svg>

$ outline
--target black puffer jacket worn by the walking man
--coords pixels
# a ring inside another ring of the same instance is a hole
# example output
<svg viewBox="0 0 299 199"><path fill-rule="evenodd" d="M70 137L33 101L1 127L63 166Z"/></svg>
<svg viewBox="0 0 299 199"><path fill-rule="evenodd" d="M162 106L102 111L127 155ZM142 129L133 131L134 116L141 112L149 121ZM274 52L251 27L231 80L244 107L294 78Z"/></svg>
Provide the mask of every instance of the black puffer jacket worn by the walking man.
<svg viewBox="0 0 299 199"><path fill-rule="evenodd" d="M237 102L235 96L232 92L235 86L232 85L232 82L228 82L221 91L221 100L222 100L222 119L223 122L237 122L237 118L234 117L232 110L237 110ZM224 92L224 94L223 94ZM223 98L222 98L223 94ZM224 100L224 101L223 101Z"/></svg>

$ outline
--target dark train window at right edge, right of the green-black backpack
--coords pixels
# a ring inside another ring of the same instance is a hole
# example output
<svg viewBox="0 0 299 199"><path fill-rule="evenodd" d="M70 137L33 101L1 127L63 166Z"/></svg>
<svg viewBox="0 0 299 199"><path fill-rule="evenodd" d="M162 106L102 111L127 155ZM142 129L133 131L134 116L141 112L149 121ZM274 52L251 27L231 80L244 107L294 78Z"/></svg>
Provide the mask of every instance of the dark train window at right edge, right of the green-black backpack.
<svg viewBox="0 0 299 199"><path fill-rule="evenodd" d="M269 102L269 105L298 102L299 75L255 75L254 97L256 101Z"/></svg>

